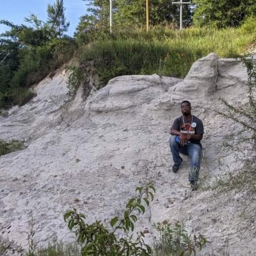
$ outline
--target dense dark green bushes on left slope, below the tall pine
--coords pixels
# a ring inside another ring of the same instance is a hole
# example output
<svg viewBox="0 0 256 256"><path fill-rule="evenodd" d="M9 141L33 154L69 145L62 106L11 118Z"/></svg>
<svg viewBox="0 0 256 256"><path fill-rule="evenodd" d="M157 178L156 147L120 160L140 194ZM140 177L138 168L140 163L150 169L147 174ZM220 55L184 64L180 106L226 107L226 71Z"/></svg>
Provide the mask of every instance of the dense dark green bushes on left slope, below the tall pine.
<svg viewBox="0 0 256 256"><path fill-rule="evenodd" d="M35 96L29 86L40 82L52 70L67 63L76 48L74 40L61 38L53 39L45 45L20 49L16 70L12 71L6 65L0 67L0 108L26 104Z"/></svg>

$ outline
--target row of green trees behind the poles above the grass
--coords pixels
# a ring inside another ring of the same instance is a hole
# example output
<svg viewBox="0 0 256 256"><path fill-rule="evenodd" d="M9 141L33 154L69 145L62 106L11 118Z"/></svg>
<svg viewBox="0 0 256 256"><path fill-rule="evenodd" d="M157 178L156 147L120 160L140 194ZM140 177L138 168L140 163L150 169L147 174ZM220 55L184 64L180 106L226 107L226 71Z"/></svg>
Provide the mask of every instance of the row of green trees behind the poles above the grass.
<svg viewBox="0 0 256 256"><path fill-rule="evenodd" d="M109 0L83 0L88 3L89 14L81 17L77 33L109 26ZM175 1L175 0L173 0ZM179 26L180 6L172 0L150 0L150 26ZM145 26L145 0L113 0L113 28L143 28ZM193 5L192 5L193 4ZM183 6L184 27L216 26L237 27L244 19L256 15L256 0L192 0ZM83 28L83 29L81 29Z"/></svg>

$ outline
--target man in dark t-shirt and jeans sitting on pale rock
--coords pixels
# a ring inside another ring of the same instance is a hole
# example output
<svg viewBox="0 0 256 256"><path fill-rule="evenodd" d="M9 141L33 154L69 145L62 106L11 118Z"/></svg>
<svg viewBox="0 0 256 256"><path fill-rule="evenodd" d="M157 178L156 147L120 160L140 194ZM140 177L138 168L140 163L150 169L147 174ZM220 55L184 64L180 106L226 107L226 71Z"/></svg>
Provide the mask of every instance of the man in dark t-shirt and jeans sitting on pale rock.
<svg viewBox="0 0 256 256"><path fill-rule="evenodd" d="M180 104L182 116L176 118L171 128L170 148L173 157L172 171L179 171L183 159L179 153L188 155L190 159L189 182L192 190L198 188L197 181L200 170L202 145L200 141L204 134L202 121L191 115L191 104L184 100Z"/></svg>

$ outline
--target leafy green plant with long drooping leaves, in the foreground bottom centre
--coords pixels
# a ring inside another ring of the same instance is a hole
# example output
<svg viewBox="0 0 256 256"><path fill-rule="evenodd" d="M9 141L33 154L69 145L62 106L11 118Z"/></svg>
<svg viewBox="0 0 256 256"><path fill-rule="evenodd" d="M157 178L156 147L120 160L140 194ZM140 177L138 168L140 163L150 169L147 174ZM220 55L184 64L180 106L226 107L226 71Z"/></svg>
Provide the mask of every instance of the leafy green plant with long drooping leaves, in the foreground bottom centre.
<svg viewBox="0 0 256 256"><path fill-rule="evenodd" d="M68 228L76 234L77 242L82 246L82 256L150 255L152 250L145 244L144 234L140 232L134 238L129 232L134 231L138 214L144 214L150 202L154 200L156 190L149 182L145 187L136 188L136 192L138 195L127 202L123 218L116 216L110 221L110 230L100 221L85 223L86 217L77 213L76 209L65 213L64 220L68 223Z"/></svg>

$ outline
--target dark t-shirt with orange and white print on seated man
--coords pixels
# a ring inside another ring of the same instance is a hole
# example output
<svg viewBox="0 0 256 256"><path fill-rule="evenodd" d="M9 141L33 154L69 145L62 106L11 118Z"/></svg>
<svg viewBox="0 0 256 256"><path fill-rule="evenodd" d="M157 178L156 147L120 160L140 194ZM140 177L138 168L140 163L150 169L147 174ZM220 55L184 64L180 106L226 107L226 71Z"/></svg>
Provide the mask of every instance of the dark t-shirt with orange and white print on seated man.
<svg viewBox="0 0 256 256"><path fill-rule="evenodd" d="M192 116L191 120L184 120L183 116L175 118L172 129L180 131L184 134L204 134L203 122L196 116ZM191 143L200 143L198 140L190 140Z"/></svg>

